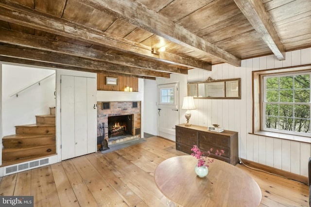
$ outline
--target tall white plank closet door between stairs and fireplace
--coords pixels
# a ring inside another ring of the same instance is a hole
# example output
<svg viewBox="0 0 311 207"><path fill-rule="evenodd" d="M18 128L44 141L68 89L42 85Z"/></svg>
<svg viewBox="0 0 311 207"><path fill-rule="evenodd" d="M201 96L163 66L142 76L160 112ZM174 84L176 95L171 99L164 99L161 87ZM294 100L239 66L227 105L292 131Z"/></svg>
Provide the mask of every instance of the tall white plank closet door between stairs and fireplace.
<svg viewBox="0 0 311 207"><path fill-rule="evenodd" d="M95 152L96 79L61 77L62 160Z"/></svg>

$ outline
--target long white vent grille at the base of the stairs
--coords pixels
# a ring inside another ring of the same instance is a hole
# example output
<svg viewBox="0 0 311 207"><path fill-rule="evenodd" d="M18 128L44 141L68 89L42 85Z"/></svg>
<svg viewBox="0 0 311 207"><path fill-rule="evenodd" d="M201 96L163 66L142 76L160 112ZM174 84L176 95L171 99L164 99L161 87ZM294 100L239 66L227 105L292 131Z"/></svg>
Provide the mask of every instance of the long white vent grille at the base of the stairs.
<svg viewBox="0 0 311 207"><path fill-rule="evenodd" d="M19 163L17 165L11 165L8 167L4 167L3 175L10 175L13 173L19 173L25 170L31 170L37 166L48 165L50 163L49 158L38 159L29 162Z"/></svg>

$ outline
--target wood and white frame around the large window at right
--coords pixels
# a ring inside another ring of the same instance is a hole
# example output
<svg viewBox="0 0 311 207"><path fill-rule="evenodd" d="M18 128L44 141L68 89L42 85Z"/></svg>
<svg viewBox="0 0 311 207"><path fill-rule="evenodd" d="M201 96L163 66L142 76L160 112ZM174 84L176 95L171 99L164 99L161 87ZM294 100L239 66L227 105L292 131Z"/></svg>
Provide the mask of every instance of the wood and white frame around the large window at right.
<svg viewBox="0 0 311 207"><path fill-rule="evenodd" d="M263 76L271 76L272 74L293 74L293 73L311 73L311 64L301 65L301 66L290 66L290 67L282 67L275 69L266 69L266 70L257 70L252 71L252 100L253 100L253 125L251 134L257 134L261 136L275 137L280 139L287 140L303 140L306 142L306 138L308 138L308 143L311 135L308 133L299 133L299 134L291 134L287 131L266 131L263 129L263 115L262 115L262 99L263 99ZM258 95L258 96L257 96ZM300 137L300 138L299 138Z"/></svg>

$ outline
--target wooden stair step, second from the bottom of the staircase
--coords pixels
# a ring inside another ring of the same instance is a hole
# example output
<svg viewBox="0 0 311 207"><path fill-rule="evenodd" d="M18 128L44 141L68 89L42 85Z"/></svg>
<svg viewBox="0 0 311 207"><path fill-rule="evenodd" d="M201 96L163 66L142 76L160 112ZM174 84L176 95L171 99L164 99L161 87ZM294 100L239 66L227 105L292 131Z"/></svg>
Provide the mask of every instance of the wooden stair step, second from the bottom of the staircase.
<svg viewBox="0 0 311 207"><path fill-rule="evenodd" d="M55 135L15 134L2 138L4 148L55 144Z"/></svg>

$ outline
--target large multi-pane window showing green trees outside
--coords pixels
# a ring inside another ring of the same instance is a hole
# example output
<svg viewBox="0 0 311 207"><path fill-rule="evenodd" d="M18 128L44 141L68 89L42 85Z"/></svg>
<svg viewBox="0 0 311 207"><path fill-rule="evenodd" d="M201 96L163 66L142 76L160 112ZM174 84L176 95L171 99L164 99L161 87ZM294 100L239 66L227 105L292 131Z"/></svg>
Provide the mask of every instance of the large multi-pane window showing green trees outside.
<svg viewBox="0 0 311 207"><path fill-rule="evenodd" d="M264 130L310 135L310 74L270 75L263 78Z"/></svg>

